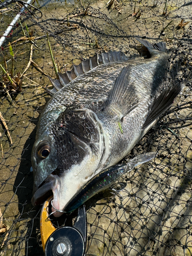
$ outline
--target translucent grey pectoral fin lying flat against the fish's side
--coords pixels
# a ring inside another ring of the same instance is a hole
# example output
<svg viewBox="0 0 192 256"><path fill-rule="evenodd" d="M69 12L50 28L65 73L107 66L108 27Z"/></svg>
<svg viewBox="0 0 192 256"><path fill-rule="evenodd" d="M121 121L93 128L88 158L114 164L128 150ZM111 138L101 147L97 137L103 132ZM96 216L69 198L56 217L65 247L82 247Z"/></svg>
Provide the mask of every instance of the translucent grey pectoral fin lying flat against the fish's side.
<svg viewBox="0 0 192 256"><path fill-rule="evenodd" d="M135 88L130 83L130 73L132 66L124 67L109 93L108 99L102 111L117 110L120 113L120 119L137 107L138 99Z"/></svg>

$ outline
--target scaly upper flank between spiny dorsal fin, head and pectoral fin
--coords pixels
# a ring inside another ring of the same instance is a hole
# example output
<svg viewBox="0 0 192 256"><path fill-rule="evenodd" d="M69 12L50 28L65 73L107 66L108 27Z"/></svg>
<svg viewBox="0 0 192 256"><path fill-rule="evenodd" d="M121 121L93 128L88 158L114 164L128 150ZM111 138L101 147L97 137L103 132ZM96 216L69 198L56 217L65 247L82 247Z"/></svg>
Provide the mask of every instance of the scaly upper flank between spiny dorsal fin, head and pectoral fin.
<svg viewBox="0 0 192 256"><path fill-rule="evenodd" d="M53 118L57 118L60 109L64 111L68 106L86 107L98 112L104 100L108 97L117 75L126 65L126 62L112 62L104 65L104 68L98 66L96 70L91 70L68 83L46 105L38 123L37 134L42 134L45 131L45 126ZM53 113L53 110L56 114Z"/></svg>

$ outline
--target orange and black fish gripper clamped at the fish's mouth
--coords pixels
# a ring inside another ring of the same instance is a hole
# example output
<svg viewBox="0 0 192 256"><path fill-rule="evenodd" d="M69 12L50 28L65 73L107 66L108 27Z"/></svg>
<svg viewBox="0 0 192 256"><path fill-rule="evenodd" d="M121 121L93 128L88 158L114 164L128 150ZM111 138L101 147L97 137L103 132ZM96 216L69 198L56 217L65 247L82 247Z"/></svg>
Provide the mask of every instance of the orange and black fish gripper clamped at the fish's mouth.
<svg viewBox="0 0 192 256"><path fill-rule="evenodd" d="M42 247L46 256L83 256L87 240L87 215L84 205L78 208L75 224L55 228L49 218L49 204L52 197L42 206L40 232Z"/></svg>

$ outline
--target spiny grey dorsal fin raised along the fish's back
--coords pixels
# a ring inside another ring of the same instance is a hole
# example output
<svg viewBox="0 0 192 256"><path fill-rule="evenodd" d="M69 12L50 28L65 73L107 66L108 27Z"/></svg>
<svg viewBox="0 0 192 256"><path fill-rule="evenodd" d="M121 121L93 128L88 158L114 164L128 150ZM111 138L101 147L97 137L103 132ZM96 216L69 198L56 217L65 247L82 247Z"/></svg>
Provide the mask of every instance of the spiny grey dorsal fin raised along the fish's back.
<svg viewBox="0 0 192 256"><path fill-rule="evenodd" d="M51 95L54 95L57 91L65 87L76 77L87 73L88 71L98 67L99 65L109 62L124 62L126 60L128 60L128 58L123 52L108 52L101 54L97 53L87 60L82 60L79 65L73 65L71 71L67 71L65 68L65 73L58 73L58 79L52 79L51 77L49 77L49 80L54 88L52 90L47 90L47 92Z"/></svg>

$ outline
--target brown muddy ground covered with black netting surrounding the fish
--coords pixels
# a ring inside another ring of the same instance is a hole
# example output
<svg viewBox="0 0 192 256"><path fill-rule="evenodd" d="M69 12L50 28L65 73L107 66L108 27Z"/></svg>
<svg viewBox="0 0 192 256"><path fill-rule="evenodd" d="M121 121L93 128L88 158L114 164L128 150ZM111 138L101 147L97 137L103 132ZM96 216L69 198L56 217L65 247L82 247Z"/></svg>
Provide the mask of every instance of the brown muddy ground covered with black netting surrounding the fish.
<svg viewBox="0 0 192 256"><path fill-rule="evenodd" d="M135 37L166 42L165 80L184 89L122 162L149 151L156 158L122 176L121 196L105 191L86 203L86 255L191 255L192 2L36 0L33 6L1 48L0 255L44 254L30 167L39 114L50 99L44 88L52 89L48 75L56 78L97 52L138 58ZM1 36L22 7L1 6Z"/></svg>

